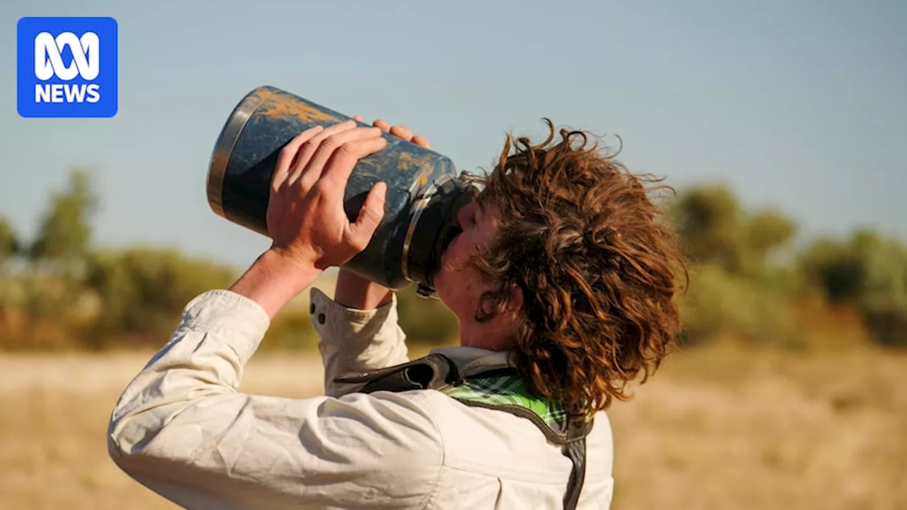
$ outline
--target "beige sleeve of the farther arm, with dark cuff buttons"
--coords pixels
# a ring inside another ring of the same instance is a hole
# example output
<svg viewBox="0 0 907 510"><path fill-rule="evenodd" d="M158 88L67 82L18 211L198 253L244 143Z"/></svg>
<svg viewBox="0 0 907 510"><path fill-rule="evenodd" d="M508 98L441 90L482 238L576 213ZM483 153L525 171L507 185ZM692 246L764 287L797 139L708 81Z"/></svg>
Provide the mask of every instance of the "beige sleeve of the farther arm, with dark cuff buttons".
<svg viewBox="0 0 907 510"><path fill-rule="evenodd" d="M353 384L335 382L377 368L409 361L406 335L397 322L397 298L378 309L348 309L319 289L311 290L312 324L325 365L325 394L345 395Z"/></svg>

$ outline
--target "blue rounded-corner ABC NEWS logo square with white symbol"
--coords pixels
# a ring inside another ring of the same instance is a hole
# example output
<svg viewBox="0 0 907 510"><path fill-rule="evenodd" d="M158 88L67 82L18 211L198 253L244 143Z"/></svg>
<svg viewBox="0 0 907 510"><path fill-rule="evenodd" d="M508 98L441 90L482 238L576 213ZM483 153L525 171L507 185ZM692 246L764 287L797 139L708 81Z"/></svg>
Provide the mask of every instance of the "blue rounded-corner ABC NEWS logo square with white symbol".
<svg viewBox="0 0 907 510"><path fill-rule="evenodd" d="M117 112L112 17L24 17L16 26L16 107L22 117Z"/></svg>

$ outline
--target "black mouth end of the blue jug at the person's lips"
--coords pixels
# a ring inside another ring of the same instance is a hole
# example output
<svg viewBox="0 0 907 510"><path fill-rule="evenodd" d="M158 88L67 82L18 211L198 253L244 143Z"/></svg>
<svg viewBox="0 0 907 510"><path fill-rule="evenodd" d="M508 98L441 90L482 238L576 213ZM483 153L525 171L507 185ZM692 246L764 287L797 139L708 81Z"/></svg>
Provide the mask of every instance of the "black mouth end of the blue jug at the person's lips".
<svg viewBox="0 0 907 510"><path fill-rule="evenodd" d="M401 270L419 286L422 296L434 296L434 276L441 269L444 251L463 230L457 213L475 200L470 181L443 175L416 192L413 216L406 232Z"/></svg>

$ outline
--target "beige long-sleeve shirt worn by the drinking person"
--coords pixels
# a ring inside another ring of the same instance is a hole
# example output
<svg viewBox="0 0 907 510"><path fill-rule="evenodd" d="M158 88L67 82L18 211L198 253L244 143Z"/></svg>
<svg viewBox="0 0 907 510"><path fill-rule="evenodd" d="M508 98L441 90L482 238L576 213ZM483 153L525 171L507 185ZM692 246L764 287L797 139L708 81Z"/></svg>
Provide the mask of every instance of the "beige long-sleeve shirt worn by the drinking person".
<svg viewBox="0 0 907 510"><path fill-rule="evenodd" d="M396 300L346 309L312 289L324 396L238 391L268 329L254 301L211 290L117 401L113 461L186 508L561 508L571 461L529 420L434 390L349 393L333 379L407 361ZM500 354L444 348L461 367ZM608 508L612 439L600 413L587 439L580 508Z"/></svg>

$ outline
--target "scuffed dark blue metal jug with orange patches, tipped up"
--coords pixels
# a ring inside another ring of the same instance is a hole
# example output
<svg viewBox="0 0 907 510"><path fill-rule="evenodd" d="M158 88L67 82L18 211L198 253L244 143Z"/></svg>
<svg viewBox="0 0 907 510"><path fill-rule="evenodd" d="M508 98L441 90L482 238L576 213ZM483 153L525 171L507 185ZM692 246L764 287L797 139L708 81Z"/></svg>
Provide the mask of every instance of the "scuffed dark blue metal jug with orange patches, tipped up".
<svg viewBox="0 0 907 510"><path fill-rule="evenodd" d="M230 113L211 153L208 203L219 216L268 236L271 177L280 150L299 132L351 120L275 87L248 93ZM361 124L366 125L366 124ZM456 213L473 200L470 174L434 151L384 134L385 149L363 158L350 175L344 208L356 217L375 182L387 184L385 217L366 250L344 268L392 289L410 282L434 295L441 255L460 232Z"/></svg>

